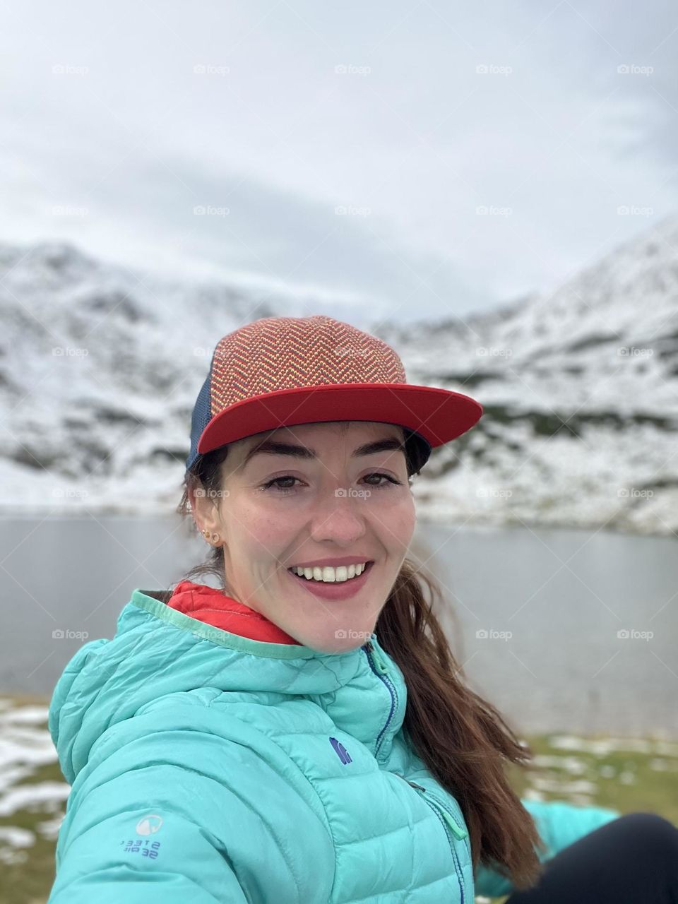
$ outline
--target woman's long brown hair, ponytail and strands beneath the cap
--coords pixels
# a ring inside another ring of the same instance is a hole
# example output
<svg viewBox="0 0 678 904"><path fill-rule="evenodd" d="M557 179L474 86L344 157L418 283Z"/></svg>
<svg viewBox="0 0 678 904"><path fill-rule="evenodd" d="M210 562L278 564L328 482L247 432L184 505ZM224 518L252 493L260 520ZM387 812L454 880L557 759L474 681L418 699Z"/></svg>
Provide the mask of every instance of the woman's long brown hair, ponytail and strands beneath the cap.
<svg viewBox="0 0 678 904"><path fill-rule="evenodd" d="M184 476L184 496L176 511L191 513L189 490L207 494L221 489L221 446L198 458ZM408 477L419 474L429 447L405 431ZM212 574L227 588L221 547L184 575ZM430 601L426 602L422 583ZM466 676L450 650L433 612L444 604L438 582L405 559L374 630L384 650L399 665L407 684L403 730L411 748L440 784L457 798L468 827L473 869L483 863L513 882L531 888L541 873L535 845L544 849L532 820L505 775L511 762L527 767L532 749L523 745L494 706L466 687Z"/></svg>

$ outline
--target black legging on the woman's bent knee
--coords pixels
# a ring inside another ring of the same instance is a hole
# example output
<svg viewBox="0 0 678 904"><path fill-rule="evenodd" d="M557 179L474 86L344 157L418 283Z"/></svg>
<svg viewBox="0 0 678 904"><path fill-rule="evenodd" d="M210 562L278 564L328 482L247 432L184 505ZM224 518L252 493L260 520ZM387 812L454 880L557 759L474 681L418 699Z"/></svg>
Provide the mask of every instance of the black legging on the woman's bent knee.
<svg viewBox="0 0 678 904"><path fill-rule="evenodd" d="M563 848L505 904L678 904L678 828L654 813L619 816Z"/></svg>

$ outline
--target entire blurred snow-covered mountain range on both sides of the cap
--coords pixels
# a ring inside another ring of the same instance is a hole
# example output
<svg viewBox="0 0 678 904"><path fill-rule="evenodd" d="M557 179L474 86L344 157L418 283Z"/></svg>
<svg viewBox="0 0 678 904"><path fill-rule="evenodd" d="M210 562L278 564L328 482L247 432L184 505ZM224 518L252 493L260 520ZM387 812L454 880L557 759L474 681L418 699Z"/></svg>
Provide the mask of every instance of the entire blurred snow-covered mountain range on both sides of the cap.
<svg viewBox="0 0 678 904"><path fill-rule="evenodd" d="M0 311L5 513L171 512L214 344L299 313L287 297L161 283L53 242L0 247ZM356 325L396 348L410 382L485 408L415 478L420 518L678 530L678 219L548 296Z"/></svg>

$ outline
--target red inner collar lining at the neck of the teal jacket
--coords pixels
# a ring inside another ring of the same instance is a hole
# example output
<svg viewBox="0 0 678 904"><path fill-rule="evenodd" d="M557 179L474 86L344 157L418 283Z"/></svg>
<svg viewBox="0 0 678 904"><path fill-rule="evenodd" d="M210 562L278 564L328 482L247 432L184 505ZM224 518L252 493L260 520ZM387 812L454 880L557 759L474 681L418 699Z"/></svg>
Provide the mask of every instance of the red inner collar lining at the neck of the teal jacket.
<svg viewBox="0 0 678 904"><path fill-rule="evenodd" d="M299 643L266 616L206 584L180 581L167 600L167 606L207 625L250 637L251 640L263 640L268 644Z"/></svg>

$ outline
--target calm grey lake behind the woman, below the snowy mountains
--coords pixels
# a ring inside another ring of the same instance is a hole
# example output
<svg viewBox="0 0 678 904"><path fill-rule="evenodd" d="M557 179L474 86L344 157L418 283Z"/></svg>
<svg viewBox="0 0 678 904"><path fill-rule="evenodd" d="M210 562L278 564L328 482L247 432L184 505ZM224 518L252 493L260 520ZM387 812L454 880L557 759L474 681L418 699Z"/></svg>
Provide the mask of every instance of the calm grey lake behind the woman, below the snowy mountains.
<svg viewBox="0 0 678 904"><path fill-rule="evenodd" d="M51 694L79 645L114 635L132 589L166 589L203 559L191 525L0 520L0 692ZM445 592L468 683L513 729L678 738L675 539L419 522L410 558Z"/></svg>

